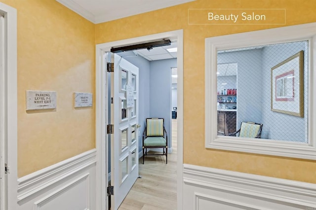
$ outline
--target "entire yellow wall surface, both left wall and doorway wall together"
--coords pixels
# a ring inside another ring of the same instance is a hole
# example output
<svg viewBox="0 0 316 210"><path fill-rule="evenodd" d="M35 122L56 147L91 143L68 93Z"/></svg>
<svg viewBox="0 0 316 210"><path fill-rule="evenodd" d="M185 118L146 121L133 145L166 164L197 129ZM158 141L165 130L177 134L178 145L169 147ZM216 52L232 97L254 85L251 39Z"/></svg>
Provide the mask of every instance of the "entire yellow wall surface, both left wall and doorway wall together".
<svg viewBox="0 0 316 210"><path fill-rule="evenodd" d="M287 26L316 22L314 0L197 0L97 25L55 0L0 1L18 14L19 177L95 147L94 106L73 105L73 92L95 98L95 43L183 29L184 163L316 183L315 161L204 146L205 38L281 26L188 25L189 8L285 8ZM57 109L26 112L26 90L56 91Z"/></svg>

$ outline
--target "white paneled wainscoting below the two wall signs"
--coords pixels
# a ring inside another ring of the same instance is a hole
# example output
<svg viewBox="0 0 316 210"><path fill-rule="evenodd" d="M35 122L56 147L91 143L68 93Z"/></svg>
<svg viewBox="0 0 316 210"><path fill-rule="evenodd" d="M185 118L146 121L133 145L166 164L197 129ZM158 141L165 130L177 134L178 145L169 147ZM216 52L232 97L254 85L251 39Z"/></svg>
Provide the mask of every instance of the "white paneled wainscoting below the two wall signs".
<svg viewBox="0 0 316 210"><path fill-rule="evenodd" d="M94 210L96 149L18 179L19 210Z"/></svg>

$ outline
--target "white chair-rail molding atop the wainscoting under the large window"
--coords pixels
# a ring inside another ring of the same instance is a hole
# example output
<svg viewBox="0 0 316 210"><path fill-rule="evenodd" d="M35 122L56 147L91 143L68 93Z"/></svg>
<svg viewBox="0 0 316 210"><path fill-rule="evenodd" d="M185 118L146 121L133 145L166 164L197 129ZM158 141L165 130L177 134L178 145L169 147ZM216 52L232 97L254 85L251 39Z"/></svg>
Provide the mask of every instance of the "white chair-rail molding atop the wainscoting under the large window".
<svg viewBox="0 0 316 210"><path fill-rule="evenodd" d="M264 200L271 204L284 206L284 208L316 208L316 184L189 164L183 166L183 182L186 188L184 194L189 197L194 194L196 209L197 197L227 205L233 204L258 210L265 209L250 201L247 203L237 202L236 199L234 200L228 195ZM192 186L194 190L188 188L189 186ZM189 189L190 191L188 191ZM220 194L214 192L223 192L226 193L226 196L221 197Z"/></svg>

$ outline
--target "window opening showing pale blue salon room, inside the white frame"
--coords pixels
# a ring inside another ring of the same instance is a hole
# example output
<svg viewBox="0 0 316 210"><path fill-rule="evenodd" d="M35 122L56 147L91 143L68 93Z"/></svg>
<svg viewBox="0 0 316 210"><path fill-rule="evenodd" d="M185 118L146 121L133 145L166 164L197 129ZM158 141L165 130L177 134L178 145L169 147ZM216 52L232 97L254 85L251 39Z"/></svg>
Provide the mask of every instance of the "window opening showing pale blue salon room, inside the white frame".
<svg viewBox="0 0 316 210"><path fill-rule="evenodd" d="M308 46L217 51L217 136L308 143Z"/></svg>

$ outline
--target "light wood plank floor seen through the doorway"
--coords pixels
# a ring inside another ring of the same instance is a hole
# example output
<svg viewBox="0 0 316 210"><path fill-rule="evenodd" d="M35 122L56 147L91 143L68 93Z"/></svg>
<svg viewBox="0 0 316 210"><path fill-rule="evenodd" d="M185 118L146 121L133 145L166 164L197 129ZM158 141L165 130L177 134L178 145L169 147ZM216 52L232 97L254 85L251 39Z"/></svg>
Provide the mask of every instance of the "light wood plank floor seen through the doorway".
<svg viewBox="0 0 316 210"><path fill-rule="evenodd" d="M172 119L172 153L139 159L138 178L118 210L177 209L177 120ZM170 135L168 135L170 138Z"/></svg>

